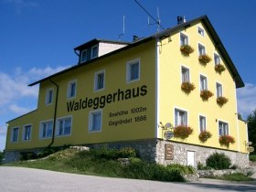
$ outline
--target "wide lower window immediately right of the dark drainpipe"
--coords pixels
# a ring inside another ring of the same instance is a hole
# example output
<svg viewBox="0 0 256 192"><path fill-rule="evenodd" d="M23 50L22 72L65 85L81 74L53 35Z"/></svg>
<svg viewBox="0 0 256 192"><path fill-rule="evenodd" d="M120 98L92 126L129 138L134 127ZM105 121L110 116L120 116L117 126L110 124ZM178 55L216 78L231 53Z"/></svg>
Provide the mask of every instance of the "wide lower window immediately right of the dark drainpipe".
<svg viewBox="0 0 256 192"><path fill-rule="evenodd" d="M56 135L70 135L71 133L71 117L61 118L57 121Z"/></svg>

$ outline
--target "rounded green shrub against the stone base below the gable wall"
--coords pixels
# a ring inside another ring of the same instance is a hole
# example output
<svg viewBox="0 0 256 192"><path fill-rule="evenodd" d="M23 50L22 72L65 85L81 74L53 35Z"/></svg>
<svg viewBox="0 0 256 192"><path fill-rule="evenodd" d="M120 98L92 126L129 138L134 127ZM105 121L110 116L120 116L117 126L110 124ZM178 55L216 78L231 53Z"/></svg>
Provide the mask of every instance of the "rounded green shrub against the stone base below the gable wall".
<svg viewBox="0 0 256 192"><path fill-rule="evenodd" d="M228 169L231 165L229 156L225 154L214 153L208 156L207 166L210 166L214 169Z"/></svg>

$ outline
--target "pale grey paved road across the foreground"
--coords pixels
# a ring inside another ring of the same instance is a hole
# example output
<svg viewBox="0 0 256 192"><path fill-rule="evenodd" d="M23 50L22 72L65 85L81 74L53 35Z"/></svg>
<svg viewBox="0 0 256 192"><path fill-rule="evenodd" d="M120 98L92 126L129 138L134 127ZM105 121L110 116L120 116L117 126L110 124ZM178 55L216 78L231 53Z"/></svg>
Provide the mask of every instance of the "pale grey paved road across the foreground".
<svg viewBox="0 0 256 192"><path fill-rule="evenodd" d="M192 183L83 176L22 167L0 166L0 191L256 191L256 183L237 184L212 179Z"/></svg>

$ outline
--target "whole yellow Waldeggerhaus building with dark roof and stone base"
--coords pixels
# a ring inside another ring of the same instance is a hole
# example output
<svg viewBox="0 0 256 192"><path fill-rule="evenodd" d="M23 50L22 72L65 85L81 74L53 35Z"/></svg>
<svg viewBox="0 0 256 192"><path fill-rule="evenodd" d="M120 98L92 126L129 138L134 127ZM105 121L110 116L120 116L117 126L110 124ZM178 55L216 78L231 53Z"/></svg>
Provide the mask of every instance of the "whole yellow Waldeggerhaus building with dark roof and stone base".
<svg viewBox="0 0 256 192"><path fill-rule="evenodd" d="M244 83L207 16L130 43L93 39L75 52L78 65L29 85L40 85L37 110L8 122L6 162L83 144L132 146L164 165L196 166L214 152L248 165L236 97Z"/></svg>

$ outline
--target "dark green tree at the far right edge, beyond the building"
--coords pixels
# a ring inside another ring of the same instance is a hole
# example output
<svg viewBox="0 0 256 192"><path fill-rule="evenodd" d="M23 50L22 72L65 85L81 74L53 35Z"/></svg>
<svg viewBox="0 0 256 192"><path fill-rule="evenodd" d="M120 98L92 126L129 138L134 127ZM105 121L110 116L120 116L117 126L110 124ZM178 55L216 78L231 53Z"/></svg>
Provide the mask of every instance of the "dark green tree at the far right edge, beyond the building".
<svg viewBox="0 0 256 192"><path fill-rule="evenodd" d="M248 136L251 146L256 149L256 110L254 110L247 118L248 121ZM255 151L254 151L255 153Z"/></svg>

